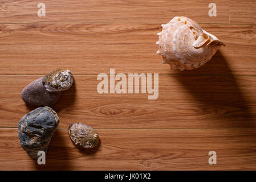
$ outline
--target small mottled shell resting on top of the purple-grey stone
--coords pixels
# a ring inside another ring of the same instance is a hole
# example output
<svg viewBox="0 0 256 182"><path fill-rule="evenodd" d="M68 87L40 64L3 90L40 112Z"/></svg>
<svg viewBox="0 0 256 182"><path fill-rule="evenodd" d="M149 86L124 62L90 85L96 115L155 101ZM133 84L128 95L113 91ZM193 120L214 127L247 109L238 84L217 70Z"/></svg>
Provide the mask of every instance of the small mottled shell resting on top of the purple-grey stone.
<svg viewBox="0 0 256 182"><path fill-rule="evenodd" d="M43 77L43 85L49 92L67 90L72 86L73 82L74 77L68 69L57 69Z"/></svg>

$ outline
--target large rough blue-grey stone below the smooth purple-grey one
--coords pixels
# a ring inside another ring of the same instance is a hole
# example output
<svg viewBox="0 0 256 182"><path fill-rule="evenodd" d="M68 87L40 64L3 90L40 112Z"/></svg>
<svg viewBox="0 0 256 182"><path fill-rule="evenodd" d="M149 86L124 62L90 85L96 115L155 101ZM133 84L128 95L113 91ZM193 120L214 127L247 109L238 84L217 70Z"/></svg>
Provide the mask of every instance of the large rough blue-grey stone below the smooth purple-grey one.
<svg viewBox="0 0 256 182"><path fill-rule="evenodd" d="M51 107L39 107L19 121L19 142L32 159L38 151L47 152L52 135L59 124L59 117Z"/></svg>

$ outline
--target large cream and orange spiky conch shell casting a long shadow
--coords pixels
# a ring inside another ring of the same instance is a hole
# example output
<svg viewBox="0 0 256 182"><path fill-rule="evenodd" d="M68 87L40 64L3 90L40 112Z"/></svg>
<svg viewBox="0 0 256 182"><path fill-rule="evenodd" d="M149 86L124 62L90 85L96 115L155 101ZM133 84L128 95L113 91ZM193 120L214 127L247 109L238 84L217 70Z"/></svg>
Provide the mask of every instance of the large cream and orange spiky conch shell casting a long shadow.
<svg viewBox="0 0 256 182"><path fill-rule="evenodd" d="M159 35L159 51L162 63L171 69L195 69L207 63L221 45L216 36L209 34L194 20L176 16L167 24L162 24Z"/></svg>

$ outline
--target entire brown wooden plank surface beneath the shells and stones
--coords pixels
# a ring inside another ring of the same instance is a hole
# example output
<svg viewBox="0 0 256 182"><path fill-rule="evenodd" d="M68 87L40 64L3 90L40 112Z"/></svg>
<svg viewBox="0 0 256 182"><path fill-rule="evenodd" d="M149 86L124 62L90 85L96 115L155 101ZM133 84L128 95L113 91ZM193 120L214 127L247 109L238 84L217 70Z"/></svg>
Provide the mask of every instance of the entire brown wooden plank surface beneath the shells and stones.
<svg viewBox="0 0 256 182"><path fill-rule="evenodd" d="M38 17L38 3L46 16ZM2 0L0 169L255 170L255 11L255 0ZM156 54L161 24L181 15L226 43L193 71L172 71ZM36 108L21 91L59 68L70 69L75 84L52 106L60 123L39 166L19 145L18 122ZM159 73L159 97L99 94L97 75L112 68ZM67 133L74 122L94 127L99 146L76 148Z"/></svg>

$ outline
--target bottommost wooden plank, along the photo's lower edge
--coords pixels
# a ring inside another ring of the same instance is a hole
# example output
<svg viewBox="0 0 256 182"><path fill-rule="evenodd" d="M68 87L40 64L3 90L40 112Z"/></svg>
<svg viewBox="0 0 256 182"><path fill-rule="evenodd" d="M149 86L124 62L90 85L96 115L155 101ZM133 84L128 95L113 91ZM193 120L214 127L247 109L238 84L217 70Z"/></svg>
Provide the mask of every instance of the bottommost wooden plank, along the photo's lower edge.
<svg viewBox="0 0 256 182"><path fill-rule="evenodd" d="M256 129L97 129L100 145L81 151L58 129L39 166L19 145L18 129L0 129L1 170L255 170ZM209 151L217 165L209 165Z"/></svg>

